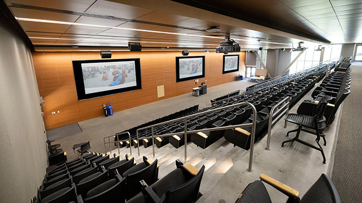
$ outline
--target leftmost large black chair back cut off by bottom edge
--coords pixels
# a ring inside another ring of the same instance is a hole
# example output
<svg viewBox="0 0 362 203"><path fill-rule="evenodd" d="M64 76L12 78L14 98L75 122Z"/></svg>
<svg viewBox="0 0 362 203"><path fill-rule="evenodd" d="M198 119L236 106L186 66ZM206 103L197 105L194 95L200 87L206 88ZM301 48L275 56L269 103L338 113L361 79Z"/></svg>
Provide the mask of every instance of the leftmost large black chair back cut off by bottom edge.
<svg viewBox="0 0 362 203"><path fill-rule="evenodd" d="M43 198L40 203L62 203L71 201L76 201L75 188L65 187Z"/></svg>

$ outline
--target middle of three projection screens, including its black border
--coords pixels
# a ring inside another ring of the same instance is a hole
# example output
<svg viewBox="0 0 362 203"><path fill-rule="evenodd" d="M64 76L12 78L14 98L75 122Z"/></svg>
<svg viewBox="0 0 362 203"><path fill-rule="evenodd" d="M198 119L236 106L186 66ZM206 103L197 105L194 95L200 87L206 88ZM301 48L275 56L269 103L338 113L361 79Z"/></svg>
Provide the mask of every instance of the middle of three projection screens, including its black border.
<svg viewBox="0 0 362 203"><path fill-rule="evenodd" d="M205 56L176 57L176 82L205 77Z"/></svg>

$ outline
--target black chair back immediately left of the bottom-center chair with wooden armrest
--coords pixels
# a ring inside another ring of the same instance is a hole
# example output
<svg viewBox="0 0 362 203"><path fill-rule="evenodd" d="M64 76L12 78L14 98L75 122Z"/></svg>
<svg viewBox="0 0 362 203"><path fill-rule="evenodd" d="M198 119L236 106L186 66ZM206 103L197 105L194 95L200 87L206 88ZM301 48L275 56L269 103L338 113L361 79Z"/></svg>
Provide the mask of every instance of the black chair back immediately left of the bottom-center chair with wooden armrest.
<svg viewBox="0 0 362 203"><path fill-rule="evenodd" d="M145 168L138 170L134 173L130 173L126 175L127 183L126 183L126 195L127 199L130 199L137 193L139 193L142 188L139 181L144 180L148 185L153 184L158 176L157 170L157 162L158 160L155 159L153 163L146 166ZM123 175L125 176L125 175Z"/></svg>

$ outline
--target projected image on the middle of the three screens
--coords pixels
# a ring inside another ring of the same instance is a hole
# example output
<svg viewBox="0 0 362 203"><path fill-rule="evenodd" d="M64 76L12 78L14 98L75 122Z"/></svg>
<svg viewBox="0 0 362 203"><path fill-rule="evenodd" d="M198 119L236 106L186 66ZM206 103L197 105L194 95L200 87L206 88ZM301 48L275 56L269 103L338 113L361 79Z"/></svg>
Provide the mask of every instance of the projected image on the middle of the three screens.
<svg viewBox="0 0 362 203"><path fill-rule="evenodd" d="M179 78L188 78L203 74L203 59L179 59Z"/></svg>

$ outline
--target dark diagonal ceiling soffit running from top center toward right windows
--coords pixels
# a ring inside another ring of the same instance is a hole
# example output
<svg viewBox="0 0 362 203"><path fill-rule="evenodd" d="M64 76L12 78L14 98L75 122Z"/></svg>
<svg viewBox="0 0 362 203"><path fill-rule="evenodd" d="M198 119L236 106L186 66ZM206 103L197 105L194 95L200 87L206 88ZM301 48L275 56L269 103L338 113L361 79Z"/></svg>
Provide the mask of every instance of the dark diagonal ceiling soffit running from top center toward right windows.
<svg viewBox="0 0 362 203"><path fill-rule="evenodd" d="M279 22L277 22L277 21L274 21L275 22L274 24L268 24L268 23L265 23L265 22L250 18L248 16L243 16L242 14L235 14L233 12L226 11L226 10L223 10L223 9L220 9L220 8L216 8L216 7L213 7L211 5L203 4L203 3L200 3L200 2L195 1L195 0L171 0L171 1L172 2L177 2L177 3L180 3L180 4L185 4L185 5L188 5L188 6L192 6L192 7L195 7L195 8L203 9L203 10L210 11L210 12L213 12L213 13L221 14L221 15L228 16L228 17L231 17L231 18L239 19L239 20L246 21L246 22L249 22L249 23L257 24L257 25L264 26L264 27L267 27L267 28L283 31L283 32L290 33L290 34L293 34L293 35L305 37L305 38L308 38L308 39L311 39L311 40L316 40L316 41L327 43L327 44L331 43L329 40L326 40L324 38L321 38L321 37L318 37L318 36L315 36L315 35L312 35L312 34L305 33L305 32L303 32L301 30L295 29L295 28L290 27L290 26L286 26L286 25L283 26L283 27L278 26ZM222 2L220 2L220 4L222 4Z"/></svg>

